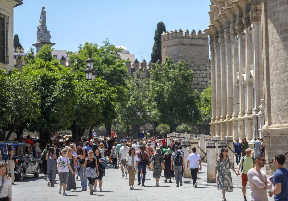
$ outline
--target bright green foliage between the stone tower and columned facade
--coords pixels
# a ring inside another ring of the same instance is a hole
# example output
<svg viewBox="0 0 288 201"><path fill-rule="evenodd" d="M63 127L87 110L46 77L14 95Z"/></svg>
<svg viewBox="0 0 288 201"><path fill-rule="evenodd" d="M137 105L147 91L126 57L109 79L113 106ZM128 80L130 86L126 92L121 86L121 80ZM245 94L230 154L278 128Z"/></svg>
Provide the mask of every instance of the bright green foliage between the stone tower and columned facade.
<svg viewBox="0 0 288 201"><path fill-rule="evenodd" d="M200 95L199 104L200 116L198 123L209 123L211 121L211 82L207 85L207 88L203 90Z"/></svg>

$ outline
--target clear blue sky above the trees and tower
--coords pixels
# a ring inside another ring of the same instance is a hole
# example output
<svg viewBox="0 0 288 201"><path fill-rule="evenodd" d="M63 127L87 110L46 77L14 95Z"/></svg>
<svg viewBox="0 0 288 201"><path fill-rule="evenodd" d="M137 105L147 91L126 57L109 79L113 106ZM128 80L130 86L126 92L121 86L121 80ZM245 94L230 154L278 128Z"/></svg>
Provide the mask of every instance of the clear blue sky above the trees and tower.
<svg viewBox="0 0 288 201"><path fill-rule="evenodd" d="M25 52L37 42L37 26L45 6L47 29L55 50L76 52L79 44L110 43L128 48L141 62L151 59L155 29L204 31L209 25L209 0L23 0L14 8L14 35ZM35 49L36 51L36 49Z"/></svg>

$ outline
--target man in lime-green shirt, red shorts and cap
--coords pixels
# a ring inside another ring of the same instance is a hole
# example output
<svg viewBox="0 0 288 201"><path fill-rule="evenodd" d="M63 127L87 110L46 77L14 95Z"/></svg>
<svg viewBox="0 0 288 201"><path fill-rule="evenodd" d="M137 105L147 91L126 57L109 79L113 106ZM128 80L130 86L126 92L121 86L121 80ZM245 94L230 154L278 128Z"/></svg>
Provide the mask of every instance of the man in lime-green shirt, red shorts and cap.
<svg viewBox="0 0 288 201"><path fill-rule="evenodd" d="M249 149L249 148L245 149L246 156L243 156L240 159L240 163L239 163L237 171L236 171L236 174L240 175L239 170L241 168L242 193L244 196L243 201L247 201L247 199L246 199L246 185L247 185L247 181L248 181L248 177L247 177L248 170L250 170L251 168L253 168L255 166L254 157L251 156L251 152L252 152L252 149Z"/></svg>

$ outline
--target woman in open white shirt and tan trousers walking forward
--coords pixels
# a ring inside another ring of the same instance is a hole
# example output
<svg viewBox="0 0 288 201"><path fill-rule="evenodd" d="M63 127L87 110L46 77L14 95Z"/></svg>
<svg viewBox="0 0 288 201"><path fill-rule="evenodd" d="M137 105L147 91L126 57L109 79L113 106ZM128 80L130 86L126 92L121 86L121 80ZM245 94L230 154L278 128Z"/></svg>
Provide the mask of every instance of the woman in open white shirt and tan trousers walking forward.
<svg viewBox="0 0 288 201"><path fill-rule="evenodd" d="M131 190L134 189L135 171L139 161L140 159L135 154L135 149L133 147L130 148L126 156L126 167L129 173L129 186Z"/></svg>

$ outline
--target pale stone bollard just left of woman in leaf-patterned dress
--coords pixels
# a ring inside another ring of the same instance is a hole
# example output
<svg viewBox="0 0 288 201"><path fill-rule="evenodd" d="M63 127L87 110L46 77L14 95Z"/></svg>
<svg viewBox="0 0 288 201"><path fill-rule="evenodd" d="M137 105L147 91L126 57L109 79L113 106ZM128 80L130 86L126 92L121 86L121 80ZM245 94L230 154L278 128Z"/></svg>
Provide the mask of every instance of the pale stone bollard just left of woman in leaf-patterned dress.
<svg viewBox="0 0 288 201"><path fill-rule="evenodd" d="M215 176L215 163L216 163L216 156L215 156L215 141L206 141L206 150L207 150L207 183L216 183L214 180Z"/></svg>

